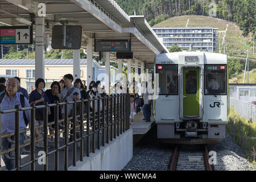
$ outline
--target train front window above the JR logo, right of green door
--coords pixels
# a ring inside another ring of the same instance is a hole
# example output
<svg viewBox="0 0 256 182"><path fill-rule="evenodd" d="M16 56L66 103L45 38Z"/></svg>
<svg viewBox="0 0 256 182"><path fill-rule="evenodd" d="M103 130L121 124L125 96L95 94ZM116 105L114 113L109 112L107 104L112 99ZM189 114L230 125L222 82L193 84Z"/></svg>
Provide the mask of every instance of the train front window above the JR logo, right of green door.
<svg viewBox="0 0 256 182"><path fill-rule="evenodd" d="M226 94L226 65L205 65L205 95Z"/></svg>

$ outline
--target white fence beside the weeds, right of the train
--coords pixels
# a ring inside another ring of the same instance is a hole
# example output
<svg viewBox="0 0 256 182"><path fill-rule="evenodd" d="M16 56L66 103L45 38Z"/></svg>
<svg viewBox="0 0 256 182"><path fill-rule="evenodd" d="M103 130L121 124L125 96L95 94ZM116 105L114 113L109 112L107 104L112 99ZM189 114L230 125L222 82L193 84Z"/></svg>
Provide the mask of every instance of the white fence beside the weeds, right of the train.
<svg viewBox="0 0 256 182"><path fill-rule="evenodd" d="M256 121L256 105L230 97L230 106L233 107L233 109L246 120L252 119L253 121Z"/></svg>

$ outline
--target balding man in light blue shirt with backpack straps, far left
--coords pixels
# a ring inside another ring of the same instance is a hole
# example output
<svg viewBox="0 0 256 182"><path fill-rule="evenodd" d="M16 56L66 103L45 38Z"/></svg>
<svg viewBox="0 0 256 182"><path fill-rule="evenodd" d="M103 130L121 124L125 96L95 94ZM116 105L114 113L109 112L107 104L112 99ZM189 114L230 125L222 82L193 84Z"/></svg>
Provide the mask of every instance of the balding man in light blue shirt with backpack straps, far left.
<svg viewBox="0 0 256 182"><path fill-rule="evenodd" d="M19 81L16 78L10 78L6 82L6 94L5 97L3 97L3 100L0 104L0 107L2 110L10 110L15 109L15 105L21 106L20 103L20 94L17 92L19 86ZM24 107L30 107L30 104L28 104L27 99L24 97ZM30 116L30 110L24 111L25 116L30 122L31 116ZM20 111L20 126L19 130L26 129L27 126L24 122L23 118L23 111ZM36 122L36 121L35 121ZM6 133L13 133L15 131L15 113L5 113L1 114L1 134ZM38 136L38 130L35 130L35 137ZM10 137L11 140L14 140L14 135ZM10 142L10 139L5 137L1 139L1 150L5 151L9 148L13 147L13 143ZM20 133L20 143L23 143L24 140L24 133ZM3 162L5 162L6 168L11 170L14 168L14 151L8 152L7 154L2 155Z"/></svg>

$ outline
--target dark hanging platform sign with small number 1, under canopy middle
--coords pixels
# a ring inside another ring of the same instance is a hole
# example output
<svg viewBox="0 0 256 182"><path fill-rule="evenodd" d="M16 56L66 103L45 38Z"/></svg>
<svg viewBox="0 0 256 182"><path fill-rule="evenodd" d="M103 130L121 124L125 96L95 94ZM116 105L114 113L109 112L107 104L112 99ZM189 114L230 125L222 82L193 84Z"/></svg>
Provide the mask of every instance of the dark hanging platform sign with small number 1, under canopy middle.
<svg viewBox="0 0 256 182"><path fill-rule="evenodd" d="M131 40L95 39L95 52L131 52Z"/></svg>

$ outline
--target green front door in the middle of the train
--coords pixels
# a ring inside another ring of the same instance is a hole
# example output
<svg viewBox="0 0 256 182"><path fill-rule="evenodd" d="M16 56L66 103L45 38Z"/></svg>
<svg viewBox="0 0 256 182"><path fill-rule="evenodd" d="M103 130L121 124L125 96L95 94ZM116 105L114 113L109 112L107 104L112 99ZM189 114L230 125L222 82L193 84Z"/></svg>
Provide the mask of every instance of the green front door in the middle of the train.
<svg viewBox="0 0 256 182"><path fill-rule="evenodd" d="M183 68L183 117L199 117L200 68Z"/></svg>

